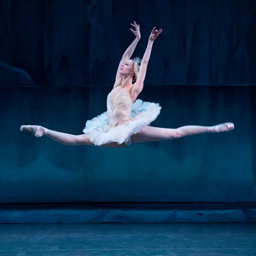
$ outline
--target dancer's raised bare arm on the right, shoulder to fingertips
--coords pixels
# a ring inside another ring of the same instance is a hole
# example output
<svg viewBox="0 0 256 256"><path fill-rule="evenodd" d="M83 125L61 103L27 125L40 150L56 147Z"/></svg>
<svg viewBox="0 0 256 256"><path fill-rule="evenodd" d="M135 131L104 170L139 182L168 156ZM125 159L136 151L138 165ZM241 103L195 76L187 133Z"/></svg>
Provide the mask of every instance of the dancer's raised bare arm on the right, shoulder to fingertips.
<svg viewBox="0 0 256 256"><path fill-rule="evenodd" d="M139 71L137 80L133 85L131 97L134 99L137 98L138 94L140 94L143 89L143 84L144 84L146 71L147 71L147 63L148 63L150 55L151 55L153 42L157 38L157 36L162 33L162 28L159 29L158 31L155 28L156 27L153 28L153 30L151 31L151 34L148 38L148 44L147 44L146 51L145 51L142 61L141 61L140 71Z"/></svg>

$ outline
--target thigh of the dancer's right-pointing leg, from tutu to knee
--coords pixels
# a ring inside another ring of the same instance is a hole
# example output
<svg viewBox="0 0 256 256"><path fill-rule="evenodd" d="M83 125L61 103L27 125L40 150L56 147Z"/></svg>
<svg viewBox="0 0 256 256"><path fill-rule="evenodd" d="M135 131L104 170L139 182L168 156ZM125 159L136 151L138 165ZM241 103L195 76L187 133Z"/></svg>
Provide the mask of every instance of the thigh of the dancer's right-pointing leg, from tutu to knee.
<svg viewBox="0 0 256 256"><path fill-rule="evenodd" d="M172 128L146 126L132 135L132 143L172 140L178 138L178 132Z"/></svg>

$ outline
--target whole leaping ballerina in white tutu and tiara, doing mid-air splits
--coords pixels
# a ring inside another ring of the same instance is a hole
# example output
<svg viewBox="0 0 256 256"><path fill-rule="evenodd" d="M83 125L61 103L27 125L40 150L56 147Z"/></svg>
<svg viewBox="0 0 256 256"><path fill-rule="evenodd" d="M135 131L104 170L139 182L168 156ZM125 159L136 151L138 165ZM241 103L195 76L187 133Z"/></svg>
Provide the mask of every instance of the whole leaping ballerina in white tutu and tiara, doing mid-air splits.
<svg viewBox="0 0 256 256"><path fill-rule="evenodd" d="M21 131L33 133L36 137L46 135L64 145L91 145L100 147L125 147L132 143L172 140L188 135L211 132L224 132L234 129L233 123L214 126L187 125L176 129L152 127L161 107L158 103L143 102L137 99L143 89L147 64L154 40L162 29L153 28L142 60L130 59L141 38L140 25L131 24L136 36L124 52L116 73L112 91L107 97L107 111L86 122L84 134L72 135L49 130L39 125L22 125ZM141 63L141 66L138 64ZM135 83L132 83L135 81ZM136 100L137 99L137 100Z"/></svg>

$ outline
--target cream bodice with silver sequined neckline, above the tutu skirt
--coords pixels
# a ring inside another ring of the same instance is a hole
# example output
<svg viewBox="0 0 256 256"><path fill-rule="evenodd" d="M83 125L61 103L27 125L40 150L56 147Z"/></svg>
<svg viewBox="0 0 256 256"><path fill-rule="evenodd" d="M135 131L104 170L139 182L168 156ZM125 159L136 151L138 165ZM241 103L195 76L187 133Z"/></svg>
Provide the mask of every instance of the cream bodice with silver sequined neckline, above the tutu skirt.
<svg viewBox="0 0 256 256"><path fill-rule="evenodd" d="M132 104L132 100L126 92L119 93L115 97L109 93L107 98L109 126L119 126L130 121L132 119L129 116Z"/></svg>

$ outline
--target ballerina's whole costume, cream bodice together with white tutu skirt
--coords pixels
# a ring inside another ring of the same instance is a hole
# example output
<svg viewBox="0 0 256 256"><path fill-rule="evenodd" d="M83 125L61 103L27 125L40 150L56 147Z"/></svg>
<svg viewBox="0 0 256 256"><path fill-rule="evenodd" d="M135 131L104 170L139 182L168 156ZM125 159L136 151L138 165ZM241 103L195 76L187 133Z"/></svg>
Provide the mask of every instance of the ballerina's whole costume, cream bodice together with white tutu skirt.
<svg viewBox="0 0 256 256"><path fill-rule="evenodd" d="M97 146L109 142L128 142L133 134L154 121L161 110L158 103L140 99L132 104L127 93L118 94L113 105L109 93L107 108L106 112L88 120L83 129L89 140Z"/></svg>

